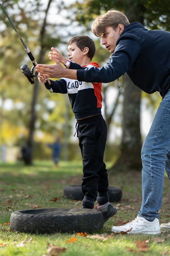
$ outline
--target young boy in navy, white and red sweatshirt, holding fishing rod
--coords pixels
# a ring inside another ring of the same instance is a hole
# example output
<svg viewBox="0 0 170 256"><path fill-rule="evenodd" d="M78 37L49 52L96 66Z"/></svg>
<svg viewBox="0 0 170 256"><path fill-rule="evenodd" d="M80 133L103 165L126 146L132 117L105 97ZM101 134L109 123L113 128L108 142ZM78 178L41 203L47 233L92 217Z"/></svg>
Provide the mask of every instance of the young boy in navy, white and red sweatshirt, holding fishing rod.
<svg viewBox="0 0 170 256"><path fill-rule="evenodd" d="M99 67L97 63L91 62L95 54L95 44L88 36L75 36L70 39L68 42L69 60L63 57L59 51L55 50L55 53L56 58L66 68L71 63L73 66L79 64L79 68L82 69ZM46 78L39 73L38 80L44 83ZM108 175L103 162L107 125L101 115L101 83L79 82L67 78L61 78L58 81L48 79L48 81L54 93L68 93L72 111L77 119L76 132L83 163L82 192L84 199L82 208L93 209L95 195L98 191L99 205L96 208L103 213L105 222L117 210L109 203Z"/></svg>

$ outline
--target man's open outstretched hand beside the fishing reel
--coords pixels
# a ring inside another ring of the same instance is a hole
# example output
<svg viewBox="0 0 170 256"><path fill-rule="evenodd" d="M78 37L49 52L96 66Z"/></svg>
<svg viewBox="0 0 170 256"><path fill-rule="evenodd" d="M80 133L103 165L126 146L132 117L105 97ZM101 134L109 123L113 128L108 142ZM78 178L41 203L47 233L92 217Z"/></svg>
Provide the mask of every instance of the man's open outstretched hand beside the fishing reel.
<svg viewBox="0 0 170 256"><path fill-rule="evenodd" d="M51 57L52 60L55 62L53 65L45 65L45 64L38 64L36 66L36 71L40 73L41 76L45 77L53 77L53 78L60 78L65 75L66 69L63 68L60 62Z"/></svg>

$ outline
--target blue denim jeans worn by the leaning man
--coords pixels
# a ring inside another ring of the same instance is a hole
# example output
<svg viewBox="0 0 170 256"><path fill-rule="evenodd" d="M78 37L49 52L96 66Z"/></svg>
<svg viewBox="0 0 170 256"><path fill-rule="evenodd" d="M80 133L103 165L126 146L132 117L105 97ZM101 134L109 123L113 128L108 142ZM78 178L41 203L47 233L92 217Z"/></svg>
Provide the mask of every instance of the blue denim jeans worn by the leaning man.
<svg viewBox="0 0 170 256"><path fill-rule="evenodd" d="M142 151L142 205L138 216L159 218L164 170L170 177L170 90L162 99Z"/></svg>

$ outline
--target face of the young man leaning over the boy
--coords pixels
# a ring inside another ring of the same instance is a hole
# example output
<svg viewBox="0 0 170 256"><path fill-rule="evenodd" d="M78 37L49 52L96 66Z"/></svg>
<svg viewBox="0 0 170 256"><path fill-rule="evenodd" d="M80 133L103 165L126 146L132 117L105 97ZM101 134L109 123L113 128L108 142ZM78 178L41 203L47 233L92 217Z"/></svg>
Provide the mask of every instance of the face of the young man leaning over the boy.
<svg viewBox="0 0 170 256"><path fill-rule="evenodd" d="M119 25L115 30L112 27L106 27L105 33L100 36L101 44L105 45L110 53L114 53L116 42L123 32L122 29L123 28L120 28Z"/></svg>

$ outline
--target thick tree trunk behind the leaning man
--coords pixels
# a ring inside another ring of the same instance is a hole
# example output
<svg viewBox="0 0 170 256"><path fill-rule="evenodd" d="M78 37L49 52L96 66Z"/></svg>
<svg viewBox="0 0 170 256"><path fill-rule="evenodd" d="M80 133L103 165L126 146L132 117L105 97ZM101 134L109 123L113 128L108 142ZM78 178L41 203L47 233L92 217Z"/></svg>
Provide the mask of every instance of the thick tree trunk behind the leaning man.
<svg viewBox="0 0 170 256"><path fill-rule="evenodd" d="M128 1L129 11L127 15L129 22L138 21L143 24L145 8L143 5L133 5ZM124 102L122 121L122 141L120 156L110 171L141 170L141 132L140 132L140 103L141 89L133 84L127 74L124 75Z"/></svg>

